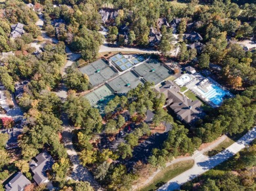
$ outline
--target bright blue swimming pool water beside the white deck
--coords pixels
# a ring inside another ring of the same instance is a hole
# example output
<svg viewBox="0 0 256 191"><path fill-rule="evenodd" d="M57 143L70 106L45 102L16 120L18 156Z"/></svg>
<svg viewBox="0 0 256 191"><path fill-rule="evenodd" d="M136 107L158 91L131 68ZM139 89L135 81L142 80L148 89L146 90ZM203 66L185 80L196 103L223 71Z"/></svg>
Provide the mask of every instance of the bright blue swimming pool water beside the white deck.
<svg viewBox="0 0 256 191"><path fill-rule="evenodd" d="M227 90L223 90L219 86L212 84L212 89L206 92L203 96L207 97L215 105L220 105L223 102L223 97L229 95Z"/></svg>

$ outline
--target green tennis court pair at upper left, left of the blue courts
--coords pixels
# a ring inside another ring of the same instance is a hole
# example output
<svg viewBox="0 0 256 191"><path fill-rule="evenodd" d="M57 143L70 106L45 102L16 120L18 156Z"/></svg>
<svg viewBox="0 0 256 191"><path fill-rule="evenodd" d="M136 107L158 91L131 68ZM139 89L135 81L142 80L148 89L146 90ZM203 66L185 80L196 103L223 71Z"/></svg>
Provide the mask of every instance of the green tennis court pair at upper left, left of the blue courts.
<svg viewBox="0 0 256 191"><path fill-rule="evenodd" d="M115 77L118 73L114 67L108 66L105 60L96 60L95 62L81 67L81 73L88 75L91 85L98 86L106 80Z"/></svg>

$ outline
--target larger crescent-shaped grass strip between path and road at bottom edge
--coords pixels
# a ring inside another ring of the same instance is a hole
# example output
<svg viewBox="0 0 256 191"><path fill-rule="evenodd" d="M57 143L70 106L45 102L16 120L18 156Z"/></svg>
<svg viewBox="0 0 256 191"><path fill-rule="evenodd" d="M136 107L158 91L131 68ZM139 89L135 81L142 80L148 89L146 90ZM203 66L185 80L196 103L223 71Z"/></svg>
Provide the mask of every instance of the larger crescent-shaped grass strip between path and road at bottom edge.
<svg viewBox="0 0 256 191"><path fill-rule="evenodd" d="M186 160L181 161L176 164L169 165L169 167L166 167L162 171L160 171L154 179L148 184L146 184L143 188L140 188L140 191L148 191L148 190L156 190L157 188L160 188L163 184L168 182L169 180L173 179L174 177L177 177L177 175L180 175L184 171L187 171L188 169L192 168L194 165L194 160Z"/></svg>

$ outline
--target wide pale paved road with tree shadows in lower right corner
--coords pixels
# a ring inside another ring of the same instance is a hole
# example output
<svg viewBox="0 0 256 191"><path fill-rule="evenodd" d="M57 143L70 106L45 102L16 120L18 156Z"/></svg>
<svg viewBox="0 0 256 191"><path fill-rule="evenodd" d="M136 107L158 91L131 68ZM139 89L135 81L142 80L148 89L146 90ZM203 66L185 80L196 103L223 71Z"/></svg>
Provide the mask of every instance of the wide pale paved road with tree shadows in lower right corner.
<svg viewBox="0 0 256 191"><path fill-rule="evenodd" d="M171 179L166 184L161 186L158 190L179 190L180 186L185 182L191 181L192 179L202 175L209 169L221 164L222 162L228 160L228 158L234 156L240 150L245 148L251 141L256 138L256 127L254 127L251 131L248 131L242 138L240 138L236 143L230 145L230 147L226 148L219 154L215 156L209 157L205 156L204 154L197 154L194 158L195 164L194 166L185 171L181 175Z"/></svg>

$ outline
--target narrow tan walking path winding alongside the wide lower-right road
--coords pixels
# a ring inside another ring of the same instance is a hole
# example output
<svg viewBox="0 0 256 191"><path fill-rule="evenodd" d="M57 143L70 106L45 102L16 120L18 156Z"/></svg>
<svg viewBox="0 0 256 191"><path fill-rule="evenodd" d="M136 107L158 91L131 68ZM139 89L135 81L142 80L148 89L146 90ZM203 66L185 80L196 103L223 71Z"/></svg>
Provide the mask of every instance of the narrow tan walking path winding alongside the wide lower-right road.
<svg viewBox="0 0 256 191"><path fill-rule="evenodd" d="M215 147L217 147L220 143L222 143L225 139L226 139L226 135L221 136L220 139L218 139L217 141L215 141L213 144L209 145L209 147L203 148L202 150L196 150L194 152L194 154L192 156L188 156L188 157L182 157L182 158L177 158L175 160L172 160L171 162L167 162L167 164L165 165L165 167L169 167L169 165L173 165L176 164L177 162L181 162L181 161L185 161L185 160L195 160L196 158L198 158L199 156L202 156L204 152L207 152L208 150L211 150ZM137 189L137 188L141 188L143 186L145 186L146 184L150 183L150 181L152 181L152 179L154 179L154 177L156 177L156 175L158 173L160 173L161 169L158 169L157 171L155 171L146 181L142 182L139 185L133 186L133 190Z"/></svg>

